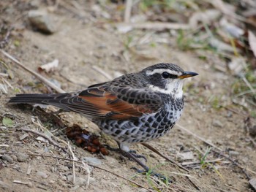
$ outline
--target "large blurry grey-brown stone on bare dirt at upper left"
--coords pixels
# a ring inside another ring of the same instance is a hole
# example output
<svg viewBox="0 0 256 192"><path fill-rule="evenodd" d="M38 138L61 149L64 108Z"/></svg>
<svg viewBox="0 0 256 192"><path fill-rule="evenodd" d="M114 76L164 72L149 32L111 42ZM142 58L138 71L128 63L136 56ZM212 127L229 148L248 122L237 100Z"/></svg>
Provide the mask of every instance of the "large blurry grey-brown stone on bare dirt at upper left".
<svg viewBox="0 0 256 192"><path fill-rule="evenodd" d="M29 21L32 26L44 33L53 34L56 31L52 18L46 10L29 11Z"/></svg>

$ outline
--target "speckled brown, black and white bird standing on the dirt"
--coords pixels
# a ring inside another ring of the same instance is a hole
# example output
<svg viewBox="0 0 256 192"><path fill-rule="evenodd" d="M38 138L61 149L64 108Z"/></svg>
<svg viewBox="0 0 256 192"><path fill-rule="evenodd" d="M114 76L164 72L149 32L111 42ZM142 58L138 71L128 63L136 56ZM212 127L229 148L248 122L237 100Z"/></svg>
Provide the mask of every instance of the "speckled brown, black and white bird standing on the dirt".
<svg viewBox="0 0 256 192"><path fill-rule="evenodd" d="M173 128L184 109L184 79L196 75L176 64L159 63L83 91L18 94L9 102L49 104L78 112L113 137L120 150L138 162L135 155L130 156L130 145L157 139Z"/></svg>

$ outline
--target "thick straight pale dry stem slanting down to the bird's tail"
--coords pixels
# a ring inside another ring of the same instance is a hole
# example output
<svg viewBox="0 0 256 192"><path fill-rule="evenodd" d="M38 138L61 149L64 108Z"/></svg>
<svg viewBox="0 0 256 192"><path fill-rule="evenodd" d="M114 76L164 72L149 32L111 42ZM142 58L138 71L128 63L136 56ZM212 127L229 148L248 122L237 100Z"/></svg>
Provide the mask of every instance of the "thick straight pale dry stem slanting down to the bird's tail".
<svg viewBox="0 0 256 192"><path fill-rule="evenodd" d="M54 90L56 90L58 93L65 93L64 90L62 90L61 88L57 87L56 85L54 85L52 82L50 82L49 80L45 79L45 77L42 77L41 74L38 74L37 72L33 72L31 69L27 68L26 66L24 66L23 64L20 63L20 61L18 61L16 58L12 57L12 55L10 55L9 53L5 52L4 50L0 50L0 52L6 56L7 58L10 58L10 60L12 60L15 64L17 64L18 66L20 66L21 68L25 69L27 72L33 74L35 77L37 77L40 81L42 81L43 83L45 83L46 85L48 85L50 88L53 88Z"/></svg>

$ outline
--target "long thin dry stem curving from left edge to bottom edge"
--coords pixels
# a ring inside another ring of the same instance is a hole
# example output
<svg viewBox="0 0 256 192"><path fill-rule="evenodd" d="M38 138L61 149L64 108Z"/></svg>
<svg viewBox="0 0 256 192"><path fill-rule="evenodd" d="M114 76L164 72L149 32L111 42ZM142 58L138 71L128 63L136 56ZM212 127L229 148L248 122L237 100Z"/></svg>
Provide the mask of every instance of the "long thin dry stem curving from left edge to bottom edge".
<svg viewBox="0 0 256 192"><path fill-rule="evenodd" d="M17 153L12 153L12 152L10 152L10 153L9 153L9 152L4 153L4 152L0 152L0 154L8 154L8 155L12 155L12 154L13 154L13 155L15 155L15 154L17 154ZM55 156L51 156L51 155L41 155L41 154L35 154L35 153L27 153L26 155L41 156L41 157L46 157L46 158L56 158L56 159L61 159L61 160L66 160L66 161L74 161L75 163L78 163L78 164L83 164L82 161L73 160L73 159L70 159L70 158L62 158L62 157L55 157ZM144 188L144 189L146 189L147 191L151 191L151 190L149 190L148 188L143 187L143 185L140 185L140 184L138 184L138 183L136 183L136 182L134 182L134 181L132 181L132 180L129 180L129 179L127 179L127 178L121 176L120 174L116 174L115 172L110 172L108 169L104 169L104 168L102 168L102 167L95 166L95 165L92 165L92 164L88 164L88 165L94 167L95 169L100 169L100 170L102 170L102 171L104 171L104 172L108 172L108 173L110 173L110 174L114 174L114 175L116 175L117 177L121 177L123 180L127 180L128 182L130 182L130 183L132 183L132 184L134 184L134 185L137 185L137 186L140 187L140 188Z"/></svg>

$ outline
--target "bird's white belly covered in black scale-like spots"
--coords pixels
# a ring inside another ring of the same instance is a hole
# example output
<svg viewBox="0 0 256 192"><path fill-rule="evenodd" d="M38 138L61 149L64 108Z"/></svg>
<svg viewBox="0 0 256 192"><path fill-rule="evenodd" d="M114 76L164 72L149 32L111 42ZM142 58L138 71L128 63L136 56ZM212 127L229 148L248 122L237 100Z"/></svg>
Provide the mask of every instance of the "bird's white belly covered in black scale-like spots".
<svg viewBox="0 0 256 192"><path fill-rule="evenodd" d="M167 134L180 117L179 112L157 112L135 120L97 120L99 128L118 142L146 142Z"/></svg>

